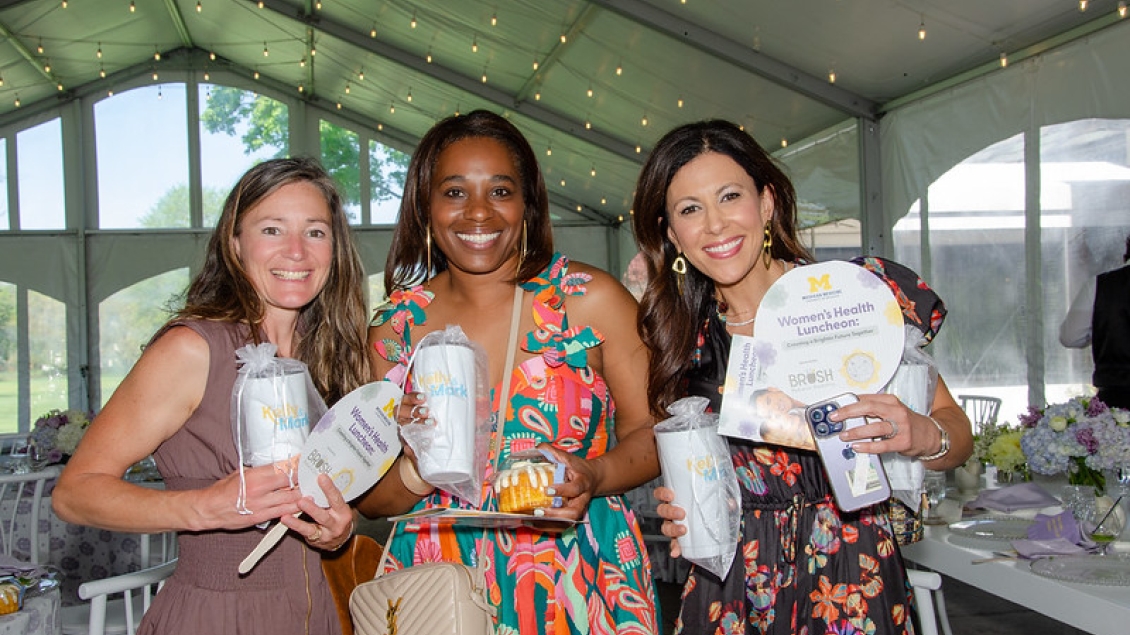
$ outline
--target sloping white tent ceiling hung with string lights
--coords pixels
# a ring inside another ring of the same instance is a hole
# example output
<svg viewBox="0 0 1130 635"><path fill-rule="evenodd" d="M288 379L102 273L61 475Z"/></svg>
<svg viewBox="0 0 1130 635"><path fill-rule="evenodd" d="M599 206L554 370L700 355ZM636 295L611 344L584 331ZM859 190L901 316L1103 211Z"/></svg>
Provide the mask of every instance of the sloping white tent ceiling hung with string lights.
<svg viewBox="0 0 1130 635"><path fill-rule="evenodd" d="M722 116L777 148L1119 19L1115 0L1086 11L1072 0L63 5L0 0L0 127L172 64L259 72L295 95L302 86L303 98L380 123L406 150L437 119L487 107L541 153L556 200L612 221L631 207L644 154L678 123Z"/></svg>

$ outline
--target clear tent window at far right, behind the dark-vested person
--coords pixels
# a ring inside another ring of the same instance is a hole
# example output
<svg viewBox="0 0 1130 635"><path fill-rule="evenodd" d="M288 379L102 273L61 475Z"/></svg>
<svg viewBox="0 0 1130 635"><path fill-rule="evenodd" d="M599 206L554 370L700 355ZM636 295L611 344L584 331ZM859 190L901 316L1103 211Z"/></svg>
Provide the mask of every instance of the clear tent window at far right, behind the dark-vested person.
<svg viewBox="0 0 1130 635"><path fill-rule="evenodd" d="M1130 120L1087 119L1040 133L1043 341L1049 402L1093 392L1090 348L1059 325L1084 282L1122 266L1130 234Z"/></svg>

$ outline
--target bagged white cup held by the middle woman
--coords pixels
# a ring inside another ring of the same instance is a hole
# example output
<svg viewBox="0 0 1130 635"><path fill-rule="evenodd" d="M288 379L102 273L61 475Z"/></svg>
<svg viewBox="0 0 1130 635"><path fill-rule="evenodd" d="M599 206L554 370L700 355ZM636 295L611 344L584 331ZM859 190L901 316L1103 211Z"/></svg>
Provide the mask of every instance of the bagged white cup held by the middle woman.
<svg viewBox="0 0 1130 635"><path fill-rule="evenodd" d="M461 343L421 347L412 362L416 389L426 395L436 430L416 456L420 477L433 484L472 478L475 468L475 351Z"/></svg>

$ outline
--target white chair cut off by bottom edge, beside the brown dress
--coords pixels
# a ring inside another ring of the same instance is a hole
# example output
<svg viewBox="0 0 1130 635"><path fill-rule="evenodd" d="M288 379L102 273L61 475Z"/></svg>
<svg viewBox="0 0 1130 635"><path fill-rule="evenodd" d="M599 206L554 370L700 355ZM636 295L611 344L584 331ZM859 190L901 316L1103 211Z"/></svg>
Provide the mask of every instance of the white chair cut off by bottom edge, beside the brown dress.
<svg viewBox="0 0 1130 635"><path fill-rule="evenodd" d="M89 602L59 611L63 635L133 635L154 594L175 569L173 559L133 573L84 582L78 597ZM121 597L111 599L113 595Z"/></svg>

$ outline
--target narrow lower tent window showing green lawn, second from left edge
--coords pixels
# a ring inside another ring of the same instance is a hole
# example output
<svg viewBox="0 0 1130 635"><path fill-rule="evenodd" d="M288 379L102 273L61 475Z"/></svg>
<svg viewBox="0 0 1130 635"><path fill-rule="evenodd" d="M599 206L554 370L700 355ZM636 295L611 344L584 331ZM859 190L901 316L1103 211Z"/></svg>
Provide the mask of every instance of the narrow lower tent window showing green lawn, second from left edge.
<svg viewBox="0 0 1130 635"><path fill-rule="evenodd" d="M63 303L28 290L28 386L33 421L47 410L69 407L66 322Z"/></svg>

